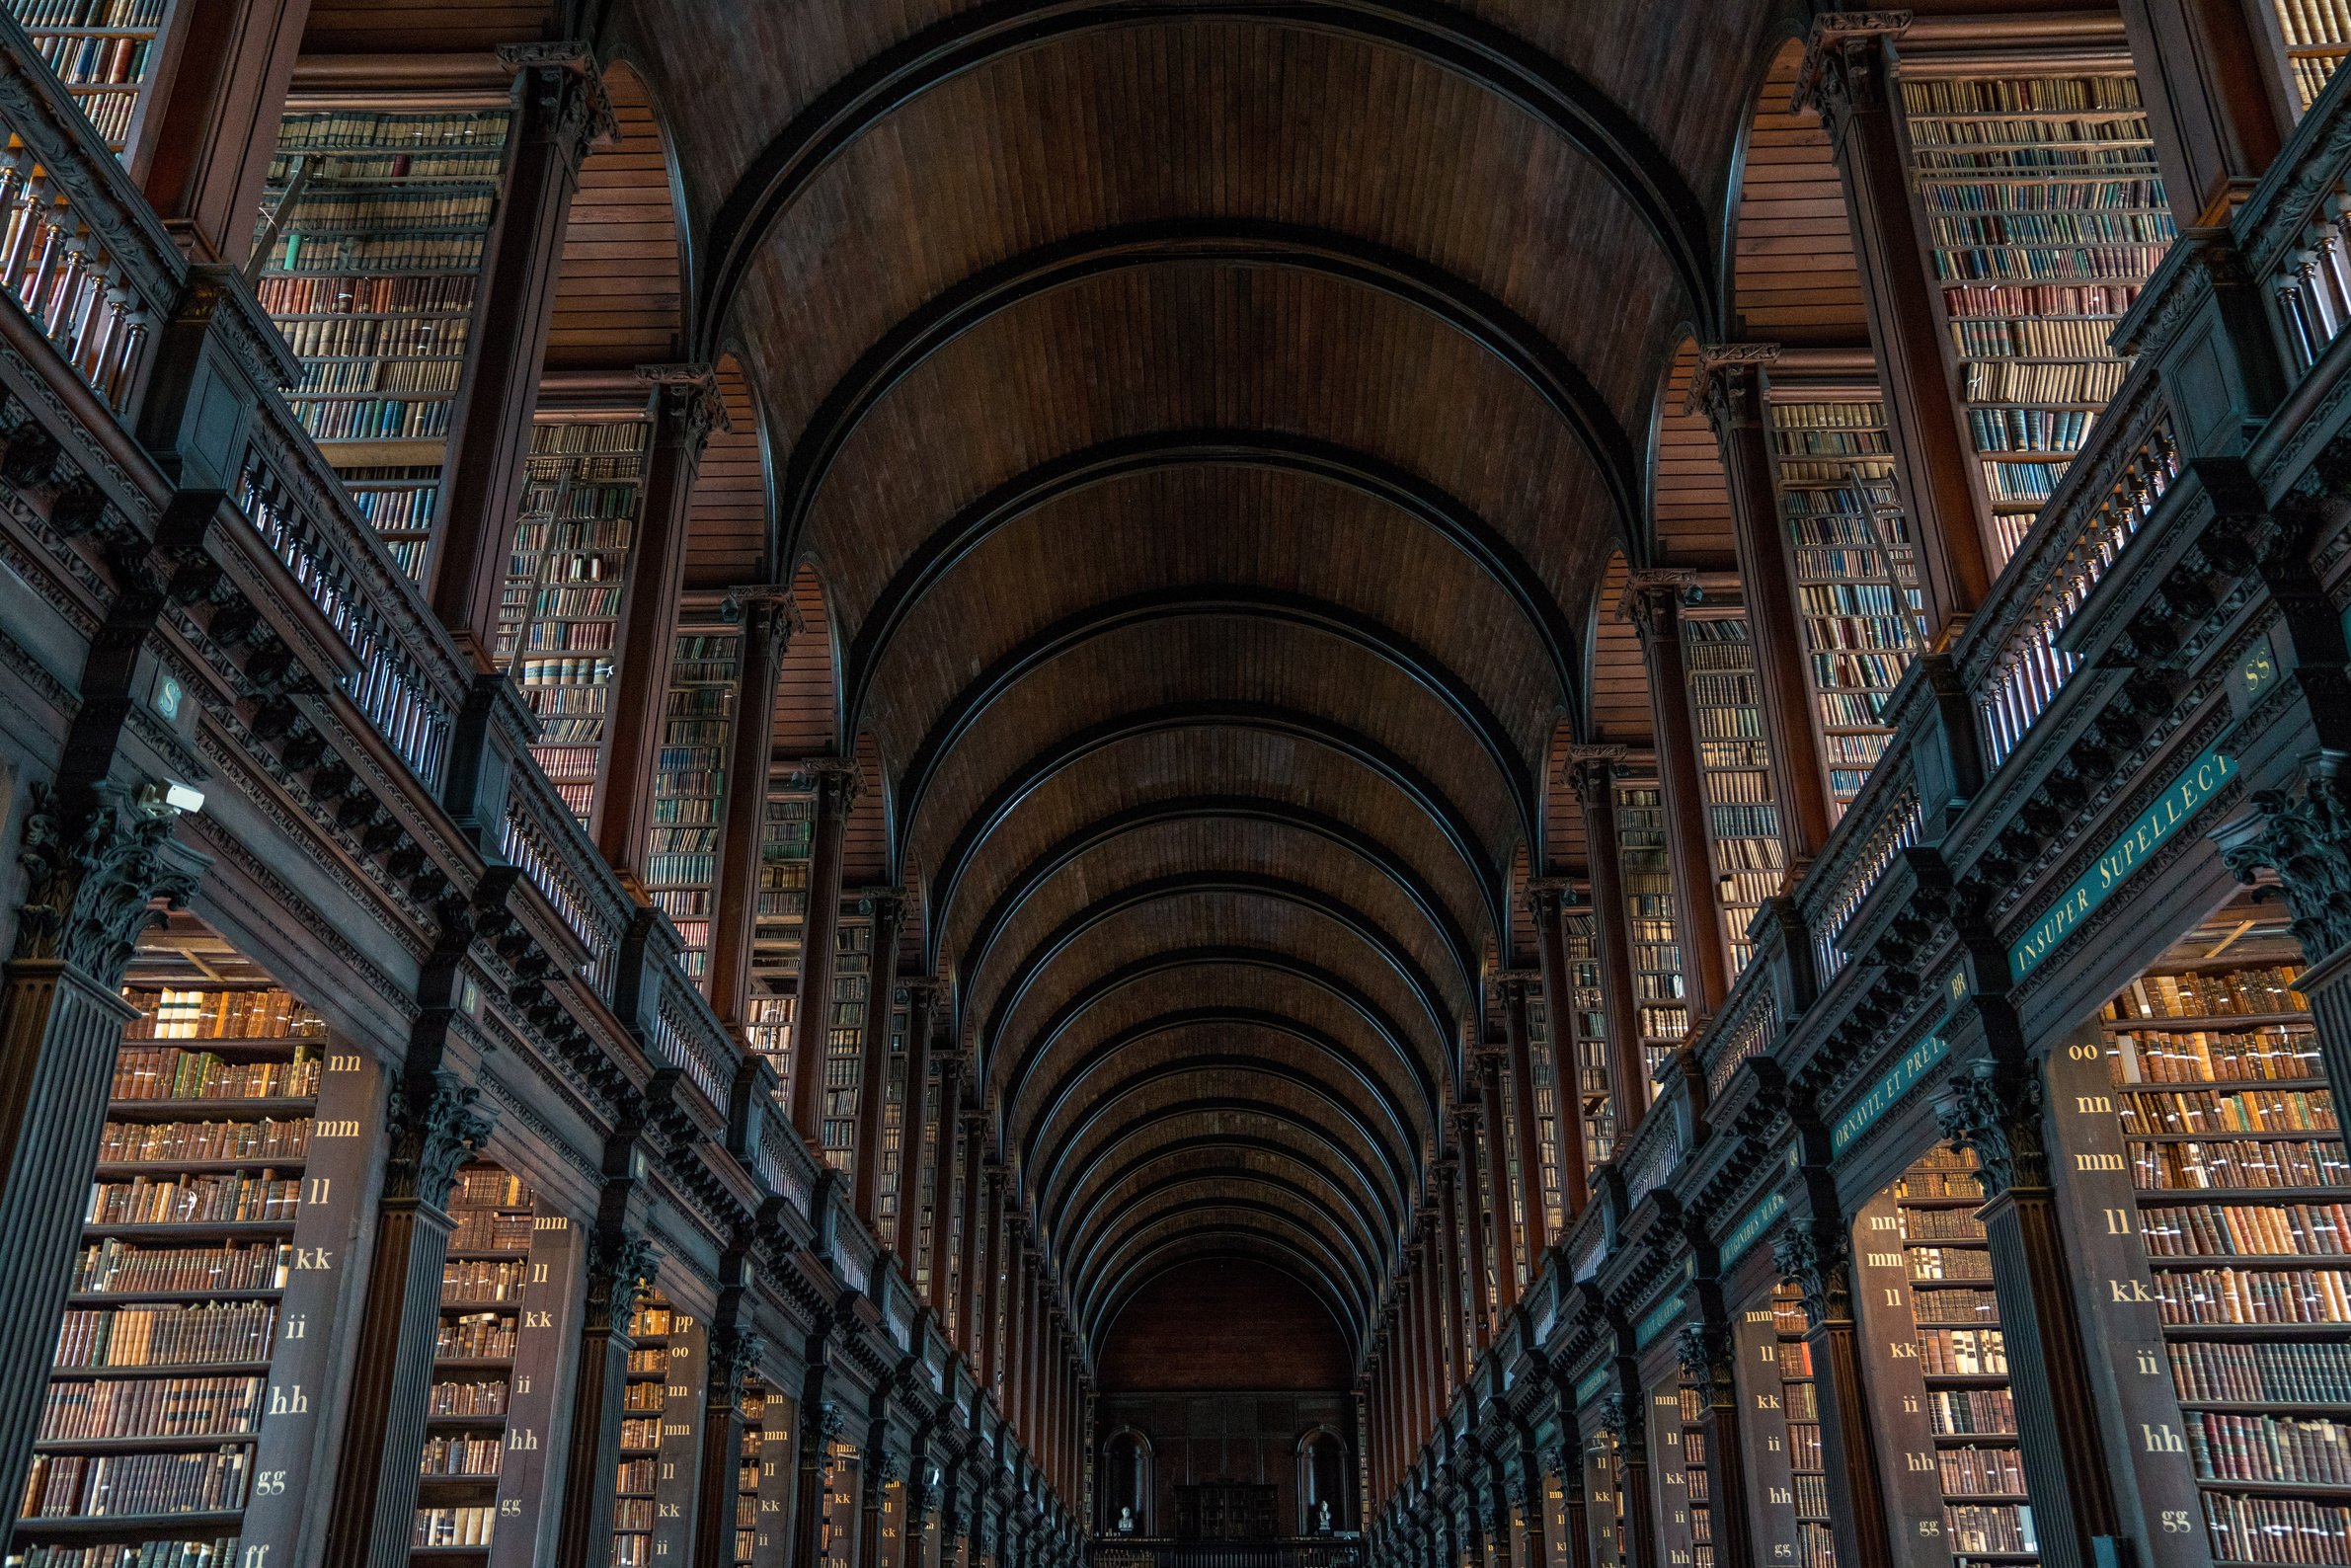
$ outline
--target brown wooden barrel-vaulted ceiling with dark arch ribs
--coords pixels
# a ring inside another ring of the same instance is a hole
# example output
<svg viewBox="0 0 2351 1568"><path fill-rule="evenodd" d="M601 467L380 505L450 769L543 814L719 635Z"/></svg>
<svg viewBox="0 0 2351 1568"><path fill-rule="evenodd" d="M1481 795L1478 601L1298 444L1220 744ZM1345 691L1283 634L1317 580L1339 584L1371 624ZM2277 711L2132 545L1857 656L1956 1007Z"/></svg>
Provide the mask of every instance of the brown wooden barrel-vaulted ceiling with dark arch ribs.
<svg viewBox="0 0 2351 1568"><path fill-rule="evenodd" d="M1660 411L1693 336L1803 308L1730 221L1751 129L1834 181L1782 113L1796 9L545 19L663 139L677 357L741 376L694 585L804 574L788 701L830 710L778 745L863 752L907 971L952 980L1084 1333L1230 1255L1364 1349L1526 961L1514 877L1580 860L1559 750L1646 738L1625 562L1728 557ZM320 0L313 47L496 42L463 16Z"/></svg>

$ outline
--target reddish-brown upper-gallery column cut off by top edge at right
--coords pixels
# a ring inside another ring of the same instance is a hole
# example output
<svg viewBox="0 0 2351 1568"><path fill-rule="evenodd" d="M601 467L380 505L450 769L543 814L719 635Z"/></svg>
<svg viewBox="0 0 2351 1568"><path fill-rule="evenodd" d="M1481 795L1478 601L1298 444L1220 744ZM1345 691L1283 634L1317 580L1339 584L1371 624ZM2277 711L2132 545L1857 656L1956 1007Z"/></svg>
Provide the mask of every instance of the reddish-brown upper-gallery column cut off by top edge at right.
<svg viewBox="0 0 2351 1568"><path fill-rule="evenodd" d="M2248 14L2255 2L2266 5L2123 0L2156 165L2182 228L2226 223L2295 122L2283 68Z"/></svg>

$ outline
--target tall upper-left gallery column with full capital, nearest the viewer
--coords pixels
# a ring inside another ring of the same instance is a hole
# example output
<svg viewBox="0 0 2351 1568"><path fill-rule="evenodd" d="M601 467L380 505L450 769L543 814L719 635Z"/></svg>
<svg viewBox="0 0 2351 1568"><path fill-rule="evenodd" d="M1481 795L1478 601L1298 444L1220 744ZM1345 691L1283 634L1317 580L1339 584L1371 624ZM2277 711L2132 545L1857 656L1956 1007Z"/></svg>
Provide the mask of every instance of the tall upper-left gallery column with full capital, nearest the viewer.
<svg viewBox="0 0 2351 1568"><path fill-rule="evenodd" d="M498 595L515 550L571 195L588 148L618 134L585 42L510 45L498 59L515 71L515 120L482 252L473 343L449 411L428 595L482 670L496 668Z"/></svg>

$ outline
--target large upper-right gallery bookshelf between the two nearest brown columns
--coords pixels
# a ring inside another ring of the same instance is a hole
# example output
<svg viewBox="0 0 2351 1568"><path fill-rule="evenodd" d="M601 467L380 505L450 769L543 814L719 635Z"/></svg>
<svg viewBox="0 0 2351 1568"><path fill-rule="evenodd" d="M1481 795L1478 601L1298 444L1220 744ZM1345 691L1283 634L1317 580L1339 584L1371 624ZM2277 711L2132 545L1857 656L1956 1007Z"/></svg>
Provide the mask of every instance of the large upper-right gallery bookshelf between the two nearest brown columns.
<svg viewBox="0 0 2351 1568"><path fill-rule="evenodd" d="M1904 73L1902 110L2005 559L2121 388L2106 334L2177 230L2130 71Z"/></svg>

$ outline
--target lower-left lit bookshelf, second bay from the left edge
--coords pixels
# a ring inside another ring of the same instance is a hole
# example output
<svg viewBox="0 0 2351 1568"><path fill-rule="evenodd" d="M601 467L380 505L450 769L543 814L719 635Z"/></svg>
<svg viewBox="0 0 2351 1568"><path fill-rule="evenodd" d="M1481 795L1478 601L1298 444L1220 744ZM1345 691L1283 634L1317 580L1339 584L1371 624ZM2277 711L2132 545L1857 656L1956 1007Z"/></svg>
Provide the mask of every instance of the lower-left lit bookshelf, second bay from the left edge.
<svg viewBox="0 0 2351 1568"><path fill-rule="evenodd" d="M416 1526L409 1533L418 1563L489 1556L531 1269L531 1190L522 1178L494 1164L456 1173Z"/></svg>

